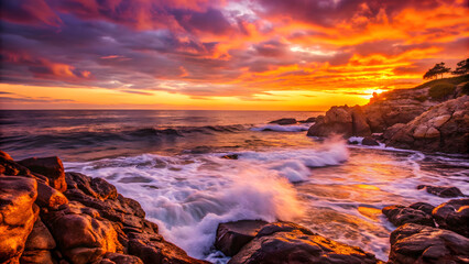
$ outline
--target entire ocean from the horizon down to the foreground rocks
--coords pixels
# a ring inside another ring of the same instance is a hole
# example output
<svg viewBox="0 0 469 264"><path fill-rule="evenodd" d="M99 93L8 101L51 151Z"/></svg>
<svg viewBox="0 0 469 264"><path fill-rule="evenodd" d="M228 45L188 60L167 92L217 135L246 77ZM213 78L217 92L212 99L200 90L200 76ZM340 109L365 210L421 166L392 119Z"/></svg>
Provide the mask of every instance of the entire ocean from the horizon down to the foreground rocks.
<svg viewBox="0 0 469 264"><path fill-rule="evenodd" d="M194 257L226 263L212 248L220 222L294 221L385 261L395 228L381 209L449 199L416 186L469 194L467 155L348 145L306 136L321 112L2 110L0 146L14 160L57 155L67 172L102 177L138 200L161 233ZM237 160L222 158L237 155Z"/></svg>

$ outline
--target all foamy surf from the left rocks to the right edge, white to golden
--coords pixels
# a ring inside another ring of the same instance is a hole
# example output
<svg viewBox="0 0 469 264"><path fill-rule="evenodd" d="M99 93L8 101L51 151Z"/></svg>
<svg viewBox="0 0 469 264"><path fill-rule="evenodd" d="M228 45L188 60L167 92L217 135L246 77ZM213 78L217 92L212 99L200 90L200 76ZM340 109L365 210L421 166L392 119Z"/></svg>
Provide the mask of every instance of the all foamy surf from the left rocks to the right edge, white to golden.
<svg viewBox="0 0 469 264"><path fill-rule="evenodd" d="M143 154L65 165L67 170L106 178L139 200L162 234L195 257L228 261L212 248L220 222L280 219L359 245L385 261L393 227L381 209L448 200L416 190L419 184L458 186L467 194L469 170L465 158L383 150L350 146L337 138L314 148ZM238 160L220 158L225 154L237 154ZM426 161L466 168L441 177L423 166Z"/></svg>

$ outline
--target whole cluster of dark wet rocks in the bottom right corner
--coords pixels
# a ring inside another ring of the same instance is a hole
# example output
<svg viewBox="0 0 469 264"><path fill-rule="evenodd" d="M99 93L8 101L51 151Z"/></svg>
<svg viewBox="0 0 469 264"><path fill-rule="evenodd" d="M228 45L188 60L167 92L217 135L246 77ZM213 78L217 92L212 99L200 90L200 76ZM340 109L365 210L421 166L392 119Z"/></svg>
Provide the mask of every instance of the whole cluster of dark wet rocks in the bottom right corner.
<svg viewBox="0 0 469 264"><path fill-rule="evenodd" d="M397 227L389 263L469 263L469 199L390 206L383 213Z"/></svg>

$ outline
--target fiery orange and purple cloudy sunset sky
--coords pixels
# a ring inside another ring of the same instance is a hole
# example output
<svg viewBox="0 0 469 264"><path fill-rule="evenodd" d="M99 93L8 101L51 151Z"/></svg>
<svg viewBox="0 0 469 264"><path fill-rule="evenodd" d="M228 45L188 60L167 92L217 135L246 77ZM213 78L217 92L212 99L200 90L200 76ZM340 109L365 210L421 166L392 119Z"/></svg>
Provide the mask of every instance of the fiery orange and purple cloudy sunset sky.
<svg viewBox="0 0 469 264"><path fill-rule="evenodd" d="M469 57L467 0L3 0L0 109L324 111Z"/></svg>

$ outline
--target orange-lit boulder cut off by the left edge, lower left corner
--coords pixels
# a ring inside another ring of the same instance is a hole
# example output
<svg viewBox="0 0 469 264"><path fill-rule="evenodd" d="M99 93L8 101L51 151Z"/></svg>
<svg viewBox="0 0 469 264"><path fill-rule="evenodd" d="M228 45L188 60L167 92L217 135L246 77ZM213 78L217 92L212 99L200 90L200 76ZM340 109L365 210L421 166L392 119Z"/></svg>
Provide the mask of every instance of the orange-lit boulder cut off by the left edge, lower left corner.
<svg viewBox="0 0 469 264"><path fill-rule="evenodd" d="M36 180L0 176L0 263L18 263L37 219Z"/></svg>

